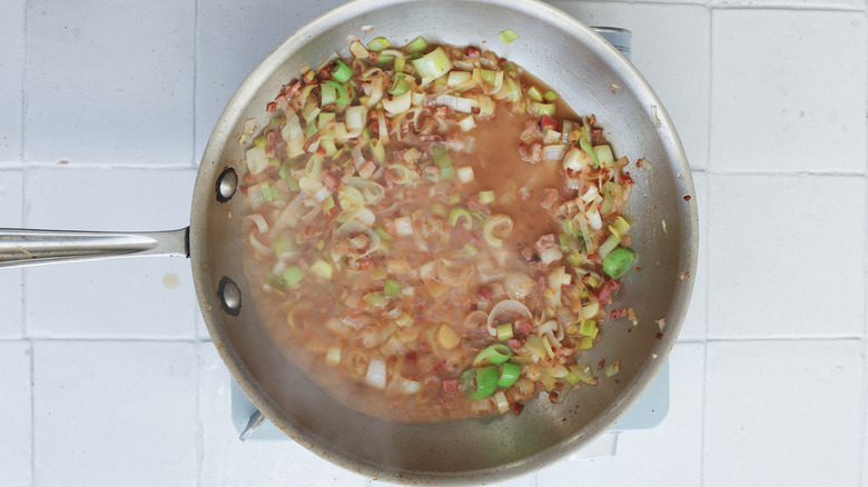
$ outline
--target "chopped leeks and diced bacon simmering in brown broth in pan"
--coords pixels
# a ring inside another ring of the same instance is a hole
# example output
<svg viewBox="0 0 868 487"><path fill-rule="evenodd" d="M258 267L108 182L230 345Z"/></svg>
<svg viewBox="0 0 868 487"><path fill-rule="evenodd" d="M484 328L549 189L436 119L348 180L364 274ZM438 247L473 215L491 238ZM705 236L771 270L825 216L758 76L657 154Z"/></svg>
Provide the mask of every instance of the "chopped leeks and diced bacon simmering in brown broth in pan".
<svg viewBox="0 0 868 487"><path fill-rule="evenodd" d="M582 357L633 268L632 180L593 116L475 47L349 51L287 82L248 141L245 272L286 355L401 421L617 374Z"/></svg>

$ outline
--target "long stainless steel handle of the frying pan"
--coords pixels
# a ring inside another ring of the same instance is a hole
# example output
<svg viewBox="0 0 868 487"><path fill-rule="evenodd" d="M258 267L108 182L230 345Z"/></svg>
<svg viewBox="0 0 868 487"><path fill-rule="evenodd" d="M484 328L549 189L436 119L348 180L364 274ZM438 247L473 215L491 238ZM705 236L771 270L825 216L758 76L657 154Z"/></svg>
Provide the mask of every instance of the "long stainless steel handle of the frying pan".
<svg viewBox="0 0 868 487"><path fill-rule="evenodd" d="M190 256L190 228L139 233L0 229L0 267L135 256Z"/></svg>

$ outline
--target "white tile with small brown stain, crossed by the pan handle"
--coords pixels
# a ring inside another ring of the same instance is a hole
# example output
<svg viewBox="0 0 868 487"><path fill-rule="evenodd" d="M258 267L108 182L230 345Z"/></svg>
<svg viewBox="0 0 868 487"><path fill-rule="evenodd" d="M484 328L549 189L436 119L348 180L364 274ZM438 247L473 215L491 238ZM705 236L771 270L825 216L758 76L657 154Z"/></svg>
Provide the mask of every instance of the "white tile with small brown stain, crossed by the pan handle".
<svg viewBox="0 0 868 487"><path fill-rule="evenodd" d="M144 231L189 225L195 170L40 168L28 172L31 228ZM82 189L87 188L87 189ZM39 337L185 338L198 300L189 259L130 257L24 270L27 327Z"/></svg>

